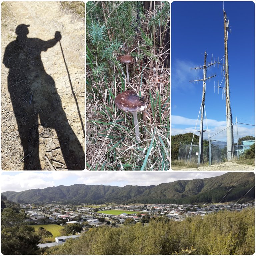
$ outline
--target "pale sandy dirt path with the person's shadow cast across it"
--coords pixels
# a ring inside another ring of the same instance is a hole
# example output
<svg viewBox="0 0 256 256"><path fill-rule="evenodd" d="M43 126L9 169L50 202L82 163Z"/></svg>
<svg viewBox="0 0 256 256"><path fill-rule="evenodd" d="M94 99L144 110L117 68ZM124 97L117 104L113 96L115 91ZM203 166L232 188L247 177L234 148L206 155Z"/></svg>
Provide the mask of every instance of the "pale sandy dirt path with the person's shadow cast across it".
<svg viewBox="0 0 256 256"><path fill-rule="evenodd" d="M53 170L45 156L56 170L84 169L84 21L44 1L4 2L2 16L2 170ZM31 40L4 58L20 24Z"/></svg>

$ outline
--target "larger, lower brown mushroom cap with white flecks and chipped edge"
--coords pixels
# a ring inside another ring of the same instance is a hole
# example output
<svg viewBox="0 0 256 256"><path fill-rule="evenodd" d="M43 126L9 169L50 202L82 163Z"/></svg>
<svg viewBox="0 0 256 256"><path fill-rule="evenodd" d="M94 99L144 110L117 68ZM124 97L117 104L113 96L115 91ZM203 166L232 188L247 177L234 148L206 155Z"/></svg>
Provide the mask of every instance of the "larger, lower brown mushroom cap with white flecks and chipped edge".
<svg viewBox="0 0 256 256"><path fill-rule="evenodd" d="M115 104L123 111L136 112L143 111L147 104L141 101L140 96L134 91L124 91L115 98Z"/></svg>

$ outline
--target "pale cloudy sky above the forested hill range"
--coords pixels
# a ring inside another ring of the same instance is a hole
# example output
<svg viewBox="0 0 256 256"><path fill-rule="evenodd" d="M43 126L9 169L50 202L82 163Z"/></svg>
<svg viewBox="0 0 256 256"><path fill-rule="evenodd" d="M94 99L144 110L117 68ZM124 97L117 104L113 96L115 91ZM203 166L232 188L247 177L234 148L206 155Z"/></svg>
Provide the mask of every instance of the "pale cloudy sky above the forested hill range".
<svg viewBox="0 0 256 256"><path fill-rule="evenodd" d="M1 190L2 192L24 191L34 188L43 189L74 184L103 184L120 187L126 185L150 186L181 179L192 180L215 177L224 173L226 172L3 172L1 174Z"/></svg>

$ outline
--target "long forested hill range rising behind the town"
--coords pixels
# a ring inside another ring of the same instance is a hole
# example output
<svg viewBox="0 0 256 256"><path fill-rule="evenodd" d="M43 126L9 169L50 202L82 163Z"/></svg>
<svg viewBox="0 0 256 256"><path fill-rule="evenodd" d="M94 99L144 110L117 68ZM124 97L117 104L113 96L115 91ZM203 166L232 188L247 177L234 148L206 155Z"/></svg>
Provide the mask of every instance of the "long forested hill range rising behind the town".
<svg viewBox="0 0 256 256"><path fill-rule="evenodd" d="M138 177L139 179L139 177ZM235 184L235 185L234 185ZM234 186L232 188L232 186ZM157 186L104 186L76 184L72 186L4 192L8 200L19 203L170 203L192 204L237 201L254 186L253 172L228 172L221 176L178 180ZM254 199L254 188L241 201Z"/></svg>

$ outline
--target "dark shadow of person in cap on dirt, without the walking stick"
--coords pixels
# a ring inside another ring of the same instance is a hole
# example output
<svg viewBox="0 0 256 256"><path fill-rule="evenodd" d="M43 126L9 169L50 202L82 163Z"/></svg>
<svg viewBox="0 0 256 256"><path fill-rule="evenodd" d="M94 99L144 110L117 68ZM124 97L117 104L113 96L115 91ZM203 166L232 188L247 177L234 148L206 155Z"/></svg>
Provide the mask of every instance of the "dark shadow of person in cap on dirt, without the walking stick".
<svg viewBox="0 0 256 256"><path fill-rule="evenodd" d="M55 32L54 38L48 41L28 38L28 27L25 24L17 26L17 38L8 44L3 58L4 65L9 68L8 90L24 157L32 152L30 157L24 158L23 169L42 169L38 132L41 125L56 130L67 169L84 170L83 148L68 123L55 82L44 70L41 60L41 52L55 46L61 40L61 34ZM51 129L48 133L51 135Z"/></svg>

